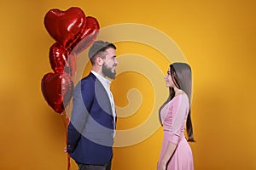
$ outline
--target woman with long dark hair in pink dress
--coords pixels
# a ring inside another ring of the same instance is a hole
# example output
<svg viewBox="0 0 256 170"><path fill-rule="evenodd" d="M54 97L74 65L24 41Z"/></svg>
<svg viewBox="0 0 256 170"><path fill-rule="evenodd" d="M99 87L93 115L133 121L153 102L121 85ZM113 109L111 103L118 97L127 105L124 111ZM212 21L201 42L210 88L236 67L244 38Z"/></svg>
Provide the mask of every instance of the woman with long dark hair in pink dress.
<svg viewBox="0 0 256 170"><path fill-rule="evenodd" d="M160 107L164 139L158 170L193 170L193 156L188 141L195 142L190 116L191 69L186 63L173 63L165 77L170 95ZM184 135L186 124L188 141Z"/></svg>

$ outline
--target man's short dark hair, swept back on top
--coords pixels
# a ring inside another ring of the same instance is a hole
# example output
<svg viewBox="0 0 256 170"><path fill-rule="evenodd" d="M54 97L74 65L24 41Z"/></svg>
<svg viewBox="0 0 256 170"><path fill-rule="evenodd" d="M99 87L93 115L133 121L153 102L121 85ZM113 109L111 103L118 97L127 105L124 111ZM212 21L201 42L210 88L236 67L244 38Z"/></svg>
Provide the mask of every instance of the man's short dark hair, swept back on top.
<svg viewBox="0 0 256 170"><path fill-rule="evenodd" d="M103 42L103 41L96 41L92 44L89 49L88 56L92 65L95 64L96 56L100 55L102 57L102 53L104 53L108 48L116 49L115 45L111 42Z"/></svg>

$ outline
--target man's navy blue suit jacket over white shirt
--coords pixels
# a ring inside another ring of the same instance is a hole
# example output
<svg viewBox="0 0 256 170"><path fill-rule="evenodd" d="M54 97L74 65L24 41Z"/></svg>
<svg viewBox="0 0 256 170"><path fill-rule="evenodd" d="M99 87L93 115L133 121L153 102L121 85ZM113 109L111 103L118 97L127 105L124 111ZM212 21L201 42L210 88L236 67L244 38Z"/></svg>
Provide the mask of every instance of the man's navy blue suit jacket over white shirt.
<svg viewBox="0 0 256 170"><path fill-rule="evenodd" d="M90 73L73 92L67 152L79 163L102 165L113 156L113 115L102 83Z"/></svg>

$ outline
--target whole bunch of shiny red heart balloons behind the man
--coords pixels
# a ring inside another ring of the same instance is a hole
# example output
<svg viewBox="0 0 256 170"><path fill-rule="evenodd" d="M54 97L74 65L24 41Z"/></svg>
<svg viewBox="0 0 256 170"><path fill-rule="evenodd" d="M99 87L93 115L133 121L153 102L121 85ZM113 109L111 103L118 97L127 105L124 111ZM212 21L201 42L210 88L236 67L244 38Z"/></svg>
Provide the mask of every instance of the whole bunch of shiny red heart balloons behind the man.
<svg viewBox="0 0 256 170"><path fill-rule="evenodd" d="M44 26L56 42L49 48L49 63L54 72L44 75L41 90L48 105L62 113L72 99L77 55L95 41L99 24L80 8L72 7L66 11L50 9L45 14Z"/></svg>

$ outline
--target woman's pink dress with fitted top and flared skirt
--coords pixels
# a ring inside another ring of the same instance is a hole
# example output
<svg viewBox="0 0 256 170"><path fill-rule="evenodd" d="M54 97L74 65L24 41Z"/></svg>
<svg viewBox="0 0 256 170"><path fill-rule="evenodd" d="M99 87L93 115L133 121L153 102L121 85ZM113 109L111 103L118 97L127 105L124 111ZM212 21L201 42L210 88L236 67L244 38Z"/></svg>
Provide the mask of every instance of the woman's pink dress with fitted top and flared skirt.
<svg viewBox="0 0 256 170"><path fill-rule="evenodd" d="M164 128L164 139L160 152L160 160L164 156L167 144L177 144L177 148L168 162L167 170L194 170L193 156L184 128L189 113L189 99L186 94L175 96L160 112Z"/></svg>

